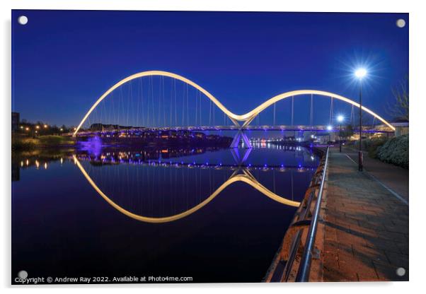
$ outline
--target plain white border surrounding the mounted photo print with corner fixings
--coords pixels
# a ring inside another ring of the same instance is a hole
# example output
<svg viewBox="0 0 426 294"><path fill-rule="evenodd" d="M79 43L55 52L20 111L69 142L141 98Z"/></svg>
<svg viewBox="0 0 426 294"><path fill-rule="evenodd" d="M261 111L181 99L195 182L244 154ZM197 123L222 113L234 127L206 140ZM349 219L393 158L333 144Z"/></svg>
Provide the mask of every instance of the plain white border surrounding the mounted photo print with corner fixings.
<svg viewBox="0 0 426 294"><path fill-rule="evenodd" d="M420 119L424 117L426 110L426 97L422 86L426 81L425 76L425 52L426 40L424 30L426 28L426 12L422 1L335 1L335 0L299 0L299 1L244 1L244 0L216 0L216 1L196 1L196 0L156 0L156 1L135 1L135 0L4 0L1 1L1 86L3 97L1 99L1 110L3 115L3 130L6 131L7 139L1 144L1 156L4 163L1 168L2 193L2 225L1 225L1 254L2 262L0 266L1 285L10 290L11 281L11 9L81 9L81 10L192 10L192 11L316 11L316 12L403 12L410 13L410 110L411 110L411 142L410 154L415 160L411 160L410 166L410 282L393 283L310 283L309 285L296 284L175 284L175 285L108 285L108 286L27 286L31 290L74 291L74 288L86 288L81 290L92 290L92 288L103 288L106 292L116 292L117 288L126 290L149 290L150 292L165 292L173 290L173 293L216 293L219 290L236 290L244 288L244 292L257 293L267 290L268 292L309 290L316 293L359 293L367 290L384 290L386 293L409 293L417 287L422 287L424 272L423 261L425 261L425 240L422 236L425 231L425 188L422 185L425 173L425 160L422 159L422 133L420 133ZM4 134L5 132L3 132ZM414 156L417 155L417 156ZM20 288L23 287L12 287ZM50 288L50 289L49 289ZM303 288L303 289L301 289Z"/></svg>

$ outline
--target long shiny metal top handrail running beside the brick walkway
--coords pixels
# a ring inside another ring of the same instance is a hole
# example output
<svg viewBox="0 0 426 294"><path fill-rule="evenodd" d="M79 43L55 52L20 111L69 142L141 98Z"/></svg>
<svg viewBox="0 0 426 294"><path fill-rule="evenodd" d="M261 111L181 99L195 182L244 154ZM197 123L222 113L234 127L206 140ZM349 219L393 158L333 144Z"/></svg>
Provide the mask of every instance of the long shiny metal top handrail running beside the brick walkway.
<svg viewBox="0 0 426 294"><path fill-rule="evenodd" d="M304 253L301 257L299 271L297 271L297 276L296 276L297 282L309 281L309 273L310 273L311 261L312 261L312 249L315 243L316 230L318 228L318 215L321 208L321 200L323 198L324 182L326 180L326 172L327 172L327 165L328 165L328 149L329 147L327 148L327 151L326 151L326 162L323 167L321 185L319 187L318 196L316 198L316 204L313 211L313 216L311 218L311 225L309 226L308 235L306 237L306 245L305 245Z"/></svg>

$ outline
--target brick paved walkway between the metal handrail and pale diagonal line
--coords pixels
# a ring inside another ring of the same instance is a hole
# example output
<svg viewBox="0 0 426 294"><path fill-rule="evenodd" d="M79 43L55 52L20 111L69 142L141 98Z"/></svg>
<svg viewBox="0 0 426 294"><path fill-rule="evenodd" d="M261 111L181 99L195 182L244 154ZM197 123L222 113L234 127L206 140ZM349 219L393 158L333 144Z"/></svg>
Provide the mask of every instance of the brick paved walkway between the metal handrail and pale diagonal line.
<svg viewBox="0 0 426 294"><path fill-rule="evenodd" d="M406 204L338 150L330 150L324 200L323 281L408 281Z"/></svg>

